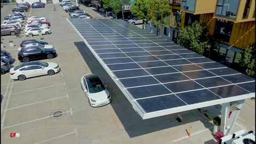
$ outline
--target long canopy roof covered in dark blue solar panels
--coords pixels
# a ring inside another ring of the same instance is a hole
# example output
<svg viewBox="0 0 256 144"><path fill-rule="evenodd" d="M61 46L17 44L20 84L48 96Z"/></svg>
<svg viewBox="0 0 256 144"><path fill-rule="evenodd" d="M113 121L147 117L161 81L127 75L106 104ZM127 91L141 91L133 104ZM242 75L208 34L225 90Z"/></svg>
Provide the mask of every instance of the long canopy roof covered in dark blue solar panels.
<svg viewBox="0 0 256 144"><path fill-rule="evenodd" d="M255 79L123 20L68 21L143 119L255 95Z"/></svg>

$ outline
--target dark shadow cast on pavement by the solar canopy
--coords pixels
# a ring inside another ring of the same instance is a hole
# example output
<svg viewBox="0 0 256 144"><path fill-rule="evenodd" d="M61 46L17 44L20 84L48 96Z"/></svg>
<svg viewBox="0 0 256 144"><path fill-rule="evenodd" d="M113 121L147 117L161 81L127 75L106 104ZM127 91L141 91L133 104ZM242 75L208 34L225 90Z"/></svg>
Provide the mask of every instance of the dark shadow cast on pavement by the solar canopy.
<svg viewBox="0 0 256 144"><path fill-rule="evenodd" d="M212 131L213 125L209 123L209 119L203 116L197 109L179 113L179 115L183 117L183 121L180 123L176 119L178 114L143 120L135 112L131 103L126 99L121 90L119 90L117 85L113 82L105 69L103 69L85 43L74 42L74 44L91 69L92 73L98 75L101 81L108 85L108 90L112 97L110 105L113 107L117 117L123 124L125 131L129 134L130 138L196 121L201 121L207 129L211 129ZM189 127L186 129L189 129ZM183 131L184 135L187 134L186 130L180 131Z"/></svg>

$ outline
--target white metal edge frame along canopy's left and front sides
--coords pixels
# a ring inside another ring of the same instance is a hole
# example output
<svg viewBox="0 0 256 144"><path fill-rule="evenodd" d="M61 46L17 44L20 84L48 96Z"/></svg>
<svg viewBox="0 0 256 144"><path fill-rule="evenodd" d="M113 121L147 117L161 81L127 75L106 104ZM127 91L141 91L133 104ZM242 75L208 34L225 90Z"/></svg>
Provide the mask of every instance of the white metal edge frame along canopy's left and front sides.
<svg viewBox="0 0 256 144"><path fill-rule="evenodd" d="M76 29L76 27L73 25L73 23L70 22L68 18L67 18L67 20L70 23L70 25L73 26L73 28L76 30L77 34L79 36L81 36L81 38L83 39L83 41L86 44L86 46L89 47L90 51L93 53L95 58L97 58L97 60L102 65L102 67L107 71L109 76L113 79L115 84L124 93L124 95L127 98L127 100L129 100L129 102L132 104L132 107L134 108L134 110L137 111L137 113L142 117L142 119L148 119L148 118L153 118L153 117L158 117L158 116L163 116L163 115L169 115L169 114L179 113L181 111L187 111L187 110L191 110L191 109L197 109L197 108L203 108L203 107L208 107L208 106L219 105L219 104L222 104L222 103L230 104L230 102L234 102L234 101L240 101L241 102L241 101L244 101L247 98L255 97L255 92L254 92L254 93L248 93L248 94L243 94L243 95L237 95L235 97L229 97L229 98L222 98L222 99L217 99L217 100L205 101L205 102L195 103L195 104L192 104L192 105L180 106L180 107L169 108L169 109L158 110L158 111L146 113L146 111L133 98L132 94L129 91L127 91L127 89L125 89L125 86L121 82L116 80L117 77L115 76L115 74L106 66L106 63L103 62L103 60L99 57L99 55L92 49L91 45L85 40L85 38L82 36L82 34L79 33L79 31ZM223 116L226 116L227 113L229 113L228 109L230 110L230 106L228 104L224 104L225 107L223 107L223 108L225 108L226 110L222 110ZM241 108L242 108L242 106L241 106ZM234 119L235 119L235 117L234 117ZM222 119L222 124L226 126L227 125L227 120L226 119ZM228 129L230 129L230 125L229 125L229 127L226 127L226 130L224 130L224 128L222 127L223 133L227 132Z"/></svg>

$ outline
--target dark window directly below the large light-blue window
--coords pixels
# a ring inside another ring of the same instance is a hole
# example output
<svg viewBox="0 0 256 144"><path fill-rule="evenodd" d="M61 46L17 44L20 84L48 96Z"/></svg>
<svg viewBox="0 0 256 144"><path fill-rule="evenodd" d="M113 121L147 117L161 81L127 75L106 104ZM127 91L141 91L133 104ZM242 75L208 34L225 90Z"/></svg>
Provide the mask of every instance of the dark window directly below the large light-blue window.
<svg viewBox="0 0 256 144"><path fill-rule="evenodd" d="M233 22L217 19L213 37L220 41L229 43L232 28Z"/></svg>

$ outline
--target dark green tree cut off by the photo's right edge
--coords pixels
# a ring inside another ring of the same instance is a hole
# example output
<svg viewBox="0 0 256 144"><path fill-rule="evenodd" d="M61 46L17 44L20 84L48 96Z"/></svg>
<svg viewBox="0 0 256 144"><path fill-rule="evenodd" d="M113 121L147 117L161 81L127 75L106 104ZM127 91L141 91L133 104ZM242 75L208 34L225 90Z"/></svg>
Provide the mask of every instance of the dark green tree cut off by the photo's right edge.
<svg viewBox="0 0 256 144"><path fill-rule="evenodd" d="M239 63L247 75L255 76L255 44L245 47L245 52L241 54Z"/></svg>

